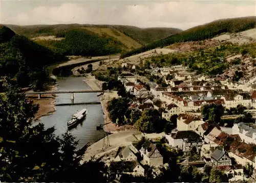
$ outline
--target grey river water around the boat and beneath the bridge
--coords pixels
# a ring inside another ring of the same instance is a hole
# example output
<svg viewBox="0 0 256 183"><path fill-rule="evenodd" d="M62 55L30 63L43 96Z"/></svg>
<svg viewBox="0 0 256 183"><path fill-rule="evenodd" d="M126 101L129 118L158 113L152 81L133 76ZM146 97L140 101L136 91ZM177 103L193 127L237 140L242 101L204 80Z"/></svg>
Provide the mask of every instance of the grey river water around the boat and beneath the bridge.
<svg viewBox="0 0 256 183"><path fill-rule="evenodd" d="M57 90L90 90L91 88L82 80L83 77L58 77ZM105 134L96 130L96 126L104 121L101 104L87 104L90 102L100 102L97 93L75 93L74 105L70 105L72 103L70 93L57 94L56 111L49 116L41 117L35 124L42 122L46 128L55 126L55 134L61 135L67 131L67 122L71 119L71 116L77 111L86 108L88 114L83 122L69 130L79 140L77 147L79 149L88 142L98 141Z"/></svg>

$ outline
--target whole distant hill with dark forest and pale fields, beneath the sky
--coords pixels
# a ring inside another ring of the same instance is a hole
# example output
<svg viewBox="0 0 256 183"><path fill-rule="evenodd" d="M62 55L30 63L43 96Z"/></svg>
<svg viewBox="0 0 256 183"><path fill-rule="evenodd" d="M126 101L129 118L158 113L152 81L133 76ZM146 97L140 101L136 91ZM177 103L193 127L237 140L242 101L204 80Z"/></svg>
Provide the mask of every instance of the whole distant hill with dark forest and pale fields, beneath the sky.
<svg viewBox="0 0 256 183"><path fill-rule="evenodd" d="M126 25L56 24L7 27L62 54L83 56L120 53L181 32L174 28L140 29Z"/></svg>

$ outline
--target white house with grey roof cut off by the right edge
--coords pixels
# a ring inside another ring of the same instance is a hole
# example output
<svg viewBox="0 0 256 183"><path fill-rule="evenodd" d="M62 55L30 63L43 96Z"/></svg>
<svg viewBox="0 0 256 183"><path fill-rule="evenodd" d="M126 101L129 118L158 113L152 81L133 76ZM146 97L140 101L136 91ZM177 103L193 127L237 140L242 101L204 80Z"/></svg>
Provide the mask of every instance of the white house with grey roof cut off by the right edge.
<svg viewBox="0 0 256 183"><path fill-rule="evenodd" d="M256 129L243 122L233 125L232 134L238 134L245 143L256 144Z"/></svg>

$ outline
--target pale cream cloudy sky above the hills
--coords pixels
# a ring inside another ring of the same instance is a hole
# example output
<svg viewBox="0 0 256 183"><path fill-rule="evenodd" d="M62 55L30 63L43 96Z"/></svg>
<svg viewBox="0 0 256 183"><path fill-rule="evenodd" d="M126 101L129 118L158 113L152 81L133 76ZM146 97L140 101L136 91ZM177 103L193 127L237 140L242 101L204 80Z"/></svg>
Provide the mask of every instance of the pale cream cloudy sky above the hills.
<svg viewBox="0 0 256 183"><path fill-rule="evenodd" d="M256 15L253 1L0 0L2 24L120 24L186 30L223 18Z"/></svg>

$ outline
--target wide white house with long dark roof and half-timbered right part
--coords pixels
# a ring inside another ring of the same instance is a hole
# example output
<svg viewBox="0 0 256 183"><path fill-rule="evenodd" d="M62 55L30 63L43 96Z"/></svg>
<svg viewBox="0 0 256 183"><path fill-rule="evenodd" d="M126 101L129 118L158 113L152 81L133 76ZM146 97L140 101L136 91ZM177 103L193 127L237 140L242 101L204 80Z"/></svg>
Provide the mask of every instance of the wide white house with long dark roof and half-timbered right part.
<svg viewBox="0 0 256 183"><path fill-rule="evenodd" d="M202 139L193 130L166 134L165 138L169 146L182 149L183 151L189 151L192 147L196 147L199 150L203 145Z"/></svg>

